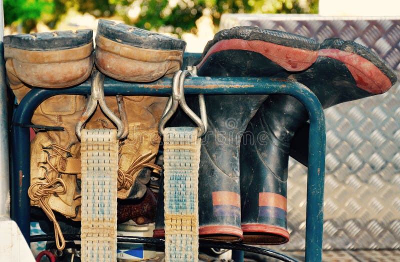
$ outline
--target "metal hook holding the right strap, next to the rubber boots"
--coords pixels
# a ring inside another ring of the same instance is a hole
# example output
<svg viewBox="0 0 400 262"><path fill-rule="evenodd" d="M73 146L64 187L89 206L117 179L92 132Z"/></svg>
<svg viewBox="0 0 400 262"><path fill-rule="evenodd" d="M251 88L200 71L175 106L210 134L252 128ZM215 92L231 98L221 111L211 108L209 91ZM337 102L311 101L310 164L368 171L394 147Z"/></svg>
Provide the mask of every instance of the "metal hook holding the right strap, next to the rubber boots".
<svg viewBox="0 0 400 262"><path fill-rule="evenodd" d="M202 136L207 131L207 113L205 109L204 95L198 95L198 103L200 107L200 117L198 117L186 104L184 99L184 78L189 75L190 72L187 70L177 71L172 79L172 95L169 97L168 102L165 106L164 112L158 124L158 131L161 135L164 134L164 128L166 122L175 113L178 105L182 110L197 124L199 129L198 136Z"/></svg>

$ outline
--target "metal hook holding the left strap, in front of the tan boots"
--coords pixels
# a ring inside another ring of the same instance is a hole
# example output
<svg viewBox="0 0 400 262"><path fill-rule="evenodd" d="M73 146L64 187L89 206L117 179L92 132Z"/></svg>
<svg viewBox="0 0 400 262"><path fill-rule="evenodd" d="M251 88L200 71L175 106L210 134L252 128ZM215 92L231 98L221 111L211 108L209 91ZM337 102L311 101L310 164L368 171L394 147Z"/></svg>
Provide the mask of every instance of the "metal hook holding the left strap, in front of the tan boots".
<svg viewBox="0 0 400 262"><path fill-rule="evenodd" d="M118 97L121 98L121 97ZM124 105L122 99L118 99L118 109L119 114L121 115L122 119L126 119L126 114L124 111ZM84 107L83 113L79 118L79 121L75 125L75 133L76 136L80 139L81 129L83 128L84 123L89 119L92 115L94 110L96 109L97 102L100 105L100 108L103 110L104 114L115 124L117 128L116 138L121 139L126 134L126 129L124 129L124 124L122 123L121 119L118 118L108 108L107 104L105 103L104 98L104 75L99 71L94 71L92 74L92 82L90 86L90 95L87 97L86 105Z"/></svg>

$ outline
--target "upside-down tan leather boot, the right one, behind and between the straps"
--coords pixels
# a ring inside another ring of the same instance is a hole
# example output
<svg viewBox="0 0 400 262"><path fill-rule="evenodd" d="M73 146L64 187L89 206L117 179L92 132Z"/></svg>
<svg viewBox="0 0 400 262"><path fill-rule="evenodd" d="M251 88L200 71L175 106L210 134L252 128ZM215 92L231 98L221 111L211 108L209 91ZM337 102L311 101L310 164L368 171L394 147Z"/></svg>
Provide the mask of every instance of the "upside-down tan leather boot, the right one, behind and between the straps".
<svg viewBox="0 0 400 262"><path fill-rule="evenodd" d="M105 75L122 80L150 82L180 69L186 43L183 40L100 19L97 27L95 64ZM119 116L115 97L105 97ZM129 133L120 142L118 198L141 198L154 164L160 136L158 121L168 97L123 96ZM86 128L115 128L97 107Z"/></svg>

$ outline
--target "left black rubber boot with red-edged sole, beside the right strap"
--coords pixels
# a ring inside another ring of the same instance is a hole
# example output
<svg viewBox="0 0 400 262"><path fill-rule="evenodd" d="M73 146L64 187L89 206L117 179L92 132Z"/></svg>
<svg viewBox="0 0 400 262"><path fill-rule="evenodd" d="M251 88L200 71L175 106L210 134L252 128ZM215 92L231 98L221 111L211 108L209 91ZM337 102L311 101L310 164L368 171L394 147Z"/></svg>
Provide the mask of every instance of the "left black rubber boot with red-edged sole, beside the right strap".
<svg viewBox="0 0 400 262"><path fill-rule="evenodd" d="M256 27L218 32L204 49L199 76L286 77L309 67L318 44L299 35ZM242 239L240 227L239 145L248 121L267 95L205 95L208 131L202 138L198 201L199 236L220 241ZM197 101L188 97L194 111ZM176 116L171 125L182 125ZM185 122L186 124L186 122ZM160 193L159 201L162 201ZM158 204L159 209L160 204ZM154 236L163 236L157 216Z"/></svg>

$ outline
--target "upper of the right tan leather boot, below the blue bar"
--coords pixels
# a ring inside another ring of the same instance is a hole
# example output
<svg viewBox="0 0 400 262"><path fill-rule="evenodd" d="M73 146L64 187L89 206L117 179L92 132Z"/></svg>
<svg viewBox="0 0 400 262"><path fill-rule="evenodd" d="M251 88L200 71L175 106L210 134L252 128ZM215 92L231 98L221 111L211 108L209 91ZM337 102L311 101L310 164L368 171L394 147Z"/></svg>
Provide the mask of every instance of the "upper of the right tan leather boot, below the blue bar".
<svg viewBox="0 0 400 262"><path fill-rule="evenodd" d="M105 97L107 106L119 116L115 97ZM154 163L160 137L158 120L164 109L165 97L123 96L129 133L119 144L118 198L141 198L152 169L159 170ZM113 123L97 108L86 128L115 128ZM144 167L145 168L142 170ZM141 171L142 170L142 171ZM140 174L139 174L140 173ZM137 179L136 179L137 178Z"/></svg>

